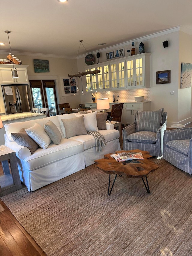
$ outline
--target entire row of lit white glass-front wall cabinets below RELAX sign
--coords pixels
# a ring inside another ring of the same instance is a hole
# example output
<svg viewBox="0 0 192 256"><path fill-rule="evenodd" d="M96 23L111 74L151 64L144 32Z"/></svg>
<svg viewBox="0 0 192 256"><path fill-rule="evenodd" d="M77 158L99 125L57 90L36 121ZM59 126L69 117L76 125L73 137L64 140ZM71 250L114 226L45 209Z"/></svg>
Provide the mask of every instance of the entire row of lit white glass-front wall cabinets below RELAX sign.
<svg viewBox="0 0 192 256"><path fill-rule="evenodd" d="M85 71L96 68L98 74L87 74L87 91L109 91L150 87L150 55L141 53L134 56L119 58L113 62L91 65Z"/></svg>

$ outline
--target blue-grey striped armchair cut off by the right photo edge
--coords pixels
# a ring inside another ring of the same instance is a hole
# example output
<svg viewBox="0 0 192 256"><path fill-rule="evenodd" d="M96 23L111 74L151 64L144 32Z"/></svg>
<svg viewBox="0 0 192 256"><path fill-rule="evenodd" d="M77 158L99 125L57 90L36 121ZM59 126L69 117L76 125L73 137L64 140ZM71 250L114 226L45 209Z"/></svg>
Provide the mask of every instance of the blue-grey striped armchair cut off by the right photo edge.
<svg viewBox="0 0 192 256"><path fill-rule="evenodd" d="M164 131L163 158L192 174L192 128Z"/></svg>

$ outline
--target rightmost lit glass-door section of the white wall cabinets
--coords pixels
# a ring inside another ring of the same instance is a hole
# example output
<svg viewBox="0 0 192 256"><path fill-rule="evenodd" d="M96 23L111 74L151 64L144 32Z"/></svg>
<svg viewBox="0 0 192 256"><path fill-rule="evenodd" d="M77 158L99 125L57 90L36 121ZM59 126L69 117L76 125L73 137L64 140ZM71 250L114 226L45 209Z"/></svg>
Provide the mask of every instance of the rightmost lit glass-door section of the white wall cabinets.
<svg viewBox="0 0 192 256"><path fill-rule="evenodd" d="M150 55L142 53L126 59L127 89L150 87Z"/></svg>

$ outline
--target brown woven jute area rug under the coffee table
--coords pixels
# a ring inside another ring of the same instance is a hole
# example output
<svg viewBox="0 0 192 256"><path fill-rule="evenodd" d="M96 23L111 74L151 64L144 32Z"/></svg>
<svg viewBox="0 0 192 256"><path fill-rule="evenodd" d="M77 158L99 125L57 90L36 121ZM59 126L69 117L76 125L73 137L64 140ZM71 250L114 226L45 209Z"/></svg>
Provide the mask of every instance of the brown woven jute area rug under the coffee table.
<svg viewBox="0 0 192 256"><path fill-rule="evenodd" d="M117 176L108 196L109 176L93 164L2 200L47 255L192 255L192 176L152 161L150 194L142 179Z"/></svg>

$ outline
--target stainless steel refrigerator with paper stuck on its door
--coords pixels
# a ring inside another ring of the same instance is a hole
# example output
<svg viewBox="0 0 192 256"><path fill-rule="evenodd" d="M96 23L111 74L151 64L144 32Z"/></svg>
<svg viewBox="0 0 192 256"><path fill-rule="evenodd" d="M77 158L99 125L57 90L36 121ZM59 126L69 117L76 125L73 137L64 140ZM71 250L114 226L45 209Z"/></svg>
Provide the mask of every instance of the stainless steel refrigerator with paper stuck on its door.
<svg viewBox="0 0 192 256"><path fill-rule="evenodd" d="M32 95L28 84L2 85L2 91L7 115L31 112Z"/></svg>

